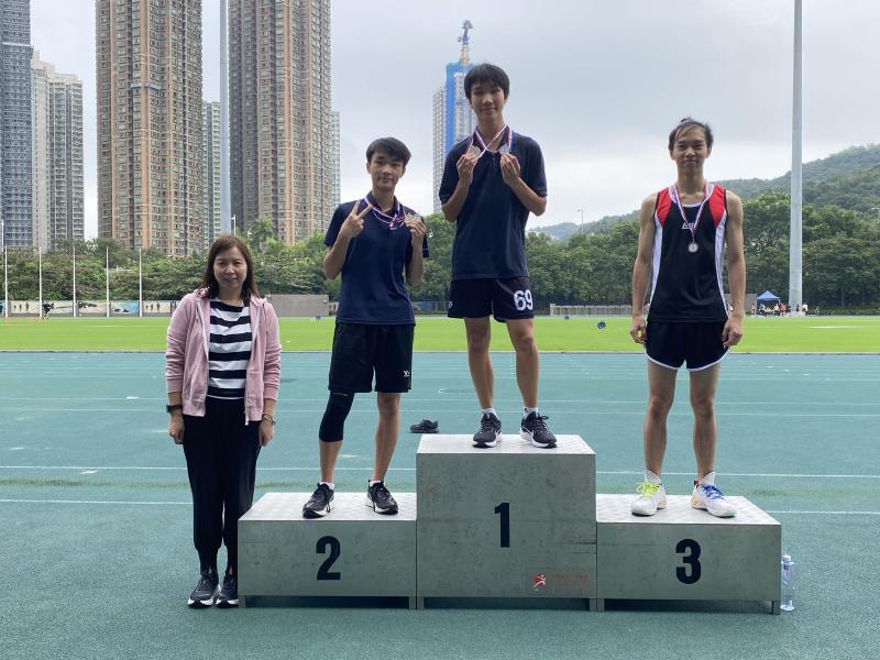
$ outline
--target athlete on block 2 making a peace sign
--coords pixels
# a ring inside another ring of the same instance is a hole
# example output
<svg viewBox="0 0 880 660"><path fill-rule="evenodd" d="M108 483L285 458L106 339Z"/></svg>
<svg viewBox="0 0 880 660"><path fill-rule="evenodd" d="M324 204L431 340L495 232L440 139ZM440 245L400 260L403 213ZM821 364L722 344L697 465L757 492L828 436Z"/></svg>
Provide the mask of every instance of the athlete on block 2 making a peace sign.
<svg viewBox="0 0 880 660"><path fill-rule="evenodd" d="M342 287L330 359L330 397L318 431L321 481L302 506L305 518L320 518L332 508L333 472L345 418L354 394L373 389L374 374L378 425L366 506L378 514L397 513L397 502L384 480L400 429L400 394L413 382L416 318L406 285L421 282L422 257L428 256L425 222L394 195L409 156L399 140L373 141L366 150L370 193L340 205L327 230L323 273L330 279L341 273Z"/></svg>

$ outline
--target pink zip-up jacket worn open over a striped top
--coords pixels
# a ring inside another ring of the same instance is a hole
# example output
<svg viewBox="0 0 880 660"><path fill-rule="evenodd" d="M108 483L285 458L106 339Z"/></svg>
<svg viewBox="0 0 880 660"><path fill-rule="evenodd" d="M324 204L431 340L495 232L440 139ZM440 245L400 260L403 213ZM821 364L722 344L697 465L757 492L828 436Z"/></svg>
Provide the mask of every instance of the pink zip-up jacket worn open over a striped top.
<svg viewBox="0 0 880 660"><path fill-rule="evenodd" d="M211 302L205 289L184 296L168 324L165 351L165 382L168 392L179 392L184 415L205 417L208 393L208 341L211 333ZM263 418L263 399L278 400L282 374L282 344L278 317L263 298L250 301L251 361L244 382L244 420Z"/></svg>

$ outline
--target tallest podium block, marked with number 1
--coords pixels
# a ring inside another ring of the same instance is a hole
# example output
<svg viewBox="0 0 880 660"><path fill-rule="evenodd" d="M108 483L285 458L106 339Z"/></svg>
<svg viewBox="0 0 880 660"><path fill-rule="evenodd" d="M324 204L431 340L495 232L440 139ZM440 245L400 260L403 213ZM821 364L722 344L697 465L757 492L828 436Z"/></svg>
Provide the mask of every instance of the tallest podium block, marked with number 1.
<svg viewBox="0 0 880 660"><path fill-rule="evenodd" d="M595 598L595 454L580 437L422 436L416 469L419 597Z"/></svg>

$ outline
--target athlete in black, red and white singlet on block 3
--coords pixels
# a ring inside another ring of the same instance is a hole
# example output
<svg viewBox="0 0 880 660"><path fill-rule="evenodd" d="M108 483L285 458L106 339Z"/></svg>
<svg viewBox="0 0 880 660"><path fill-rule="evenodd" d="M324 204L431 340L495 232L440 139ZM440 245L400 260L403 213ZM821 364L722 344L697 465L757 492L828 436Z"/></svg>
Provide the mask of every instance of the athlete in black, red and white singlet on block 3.
<svg viewBox="0 0 880 660"><path fill-rule="evenodd" d="M645 481L632 514L652 516L667 505L660 479L667 447L667 417L675 376L688 365L697 479L691 506L713 516L736 515L715 485L717 429L713 399L721 361L743 337L746 262L743 202L703 174L712 153L710 127L690 117L669 135L675 183L648 196L639 212L639 244L632 268L632 340L648 355L648 411L645 416ZM733 311L722 279L725 244ZM651 282L648 320L642 306Z"/></svg>

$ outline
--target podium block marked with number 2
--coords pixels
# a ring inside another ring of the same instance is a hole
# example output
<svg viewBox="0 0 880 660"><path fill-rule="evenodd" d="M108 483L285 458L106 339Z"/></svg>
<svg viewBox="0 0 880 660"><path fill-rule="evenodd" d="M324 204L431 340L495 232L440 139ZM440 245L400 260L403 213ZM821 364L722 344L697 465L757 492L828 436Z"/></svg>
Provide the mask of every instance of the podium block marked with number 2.
<svg viewBox="0 0 880 660"><path fill-rule="evenodd" d="M310 493L267 493L239 520L239 595L416 596L416 495L395 494L396 516L337 493L333 510L307 520Z"/></svg>

